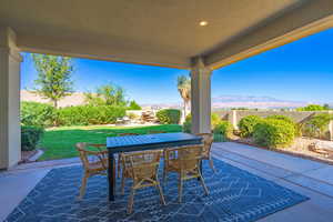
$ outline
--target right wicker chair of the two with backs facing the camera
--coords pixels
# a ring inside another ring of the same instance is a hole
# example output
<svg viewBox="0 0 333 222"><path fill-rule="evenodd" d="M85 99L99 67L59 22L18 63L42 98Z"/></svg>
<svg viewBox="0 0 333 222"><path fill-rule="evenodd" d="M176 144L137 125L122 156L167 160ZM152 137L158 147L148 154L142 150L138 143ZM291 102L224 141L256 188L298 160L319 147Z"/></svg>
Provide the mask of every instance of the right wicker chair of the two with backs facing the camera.
<svg viewBox="0 0 333 222"><path fill-rule="evenodd" d="M164 151L164 171L163 181L167 182L169 172L179 173L178 200L182 202L183 181L190 179L200 179L205 194L209 191L200 172L201 157L203 145L185 145Z"/></svg>

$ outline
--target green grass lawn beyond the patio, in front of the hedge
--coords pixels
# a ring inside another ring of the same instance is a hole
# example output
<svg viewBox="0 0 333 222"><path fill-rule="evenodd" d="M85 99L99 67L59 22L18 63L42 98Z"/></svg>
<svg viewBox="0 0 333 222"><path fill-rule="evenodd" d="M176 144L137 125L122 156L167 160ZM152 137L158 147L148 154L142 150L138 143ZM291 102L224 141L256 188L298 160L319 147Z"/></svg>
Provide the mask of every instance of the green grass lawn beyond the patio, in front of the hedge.
<svg viewBox="0 0 333 222"><path fill-rule="evenodd" d="M180 132L181 125L153 125L153 127L63 127L48 129L40 142L44 150L39 160L54 160L78 157L74 144L77 142L105 143L107 137L115 137L118 133L147 134L149 131Z"/></svg>

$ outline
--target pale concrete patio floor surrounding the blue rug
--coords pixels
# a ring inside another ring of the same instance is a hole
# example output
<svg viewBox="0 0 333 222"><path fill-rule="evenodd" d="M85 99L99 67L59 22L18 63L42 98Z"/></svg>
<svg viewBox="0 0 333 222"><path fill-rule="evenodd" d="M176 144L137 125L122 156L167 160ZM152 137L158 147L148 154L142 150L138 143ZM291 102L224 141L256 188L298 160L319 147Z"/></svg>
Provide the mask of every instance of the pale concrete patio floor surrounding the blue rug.
<svg viewBox="0 0 333 222"><path fill-rule="evenodd" d="M332 221L333 165L233 142L214 143L212 153L216 159L274 181L311 199L261 219L260 222ZM7 218L51 169L79 163L79 159L74 158L29 163L1 172L0 221Z"/></svg>

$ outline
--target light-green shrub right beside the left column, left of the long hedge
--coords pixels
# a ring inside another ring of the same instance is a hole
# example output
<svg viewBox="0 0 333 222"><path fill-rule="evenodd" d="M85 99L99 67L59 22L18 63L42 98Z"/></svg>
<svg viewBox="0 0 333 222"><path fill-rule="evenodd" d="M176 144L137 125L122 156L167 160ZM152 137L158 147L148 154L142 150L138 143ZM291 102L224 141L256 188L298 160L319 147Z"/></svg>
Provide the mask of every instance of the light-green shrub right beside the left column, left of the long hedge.
<svg viewBox="0 0 333 222"><path fill-rule="evenodd" d="M23 125L50 127L56 120L54 108L39 102L21 102L21 123Z"/></svg>

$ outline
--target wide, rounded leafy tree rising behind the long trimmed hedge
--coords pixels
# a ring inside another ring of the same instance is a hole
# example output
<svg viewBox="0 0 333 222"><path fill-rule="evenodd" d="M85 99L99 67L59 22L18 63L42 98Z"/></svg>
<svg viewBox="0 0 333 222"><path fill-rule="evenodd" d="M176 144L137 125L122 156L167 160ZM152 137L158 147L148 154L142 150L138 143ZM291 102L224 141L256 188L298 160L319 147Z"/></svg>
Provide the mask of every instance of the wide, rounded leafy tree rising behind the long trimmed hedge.
<svg viewBox="0 0 333 222"><path fill-rule="evenodd" d="M95 93L85 93L85 102L91 105L118 105L125 107L125 91L113 83L99 87Z"/></svg>

